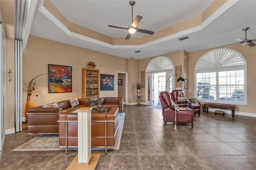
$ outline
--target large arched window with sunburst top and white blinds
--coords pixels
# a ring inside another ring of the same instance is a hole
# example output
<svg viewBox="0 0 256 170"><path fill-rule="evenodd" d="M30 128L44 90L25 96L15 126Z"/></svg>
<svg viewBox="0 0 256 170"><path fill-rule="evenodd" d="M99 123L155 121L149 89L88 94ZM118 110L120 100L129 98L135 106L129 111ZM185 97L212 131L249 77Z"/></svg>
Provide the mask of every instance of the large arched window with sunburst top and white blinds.
<svg viewBox="0 0 256 170"><path fill-rule="evenodd" d="M247 64L238 51L214 49L195 66L195 97L203 102L247 105Z"/></svg>

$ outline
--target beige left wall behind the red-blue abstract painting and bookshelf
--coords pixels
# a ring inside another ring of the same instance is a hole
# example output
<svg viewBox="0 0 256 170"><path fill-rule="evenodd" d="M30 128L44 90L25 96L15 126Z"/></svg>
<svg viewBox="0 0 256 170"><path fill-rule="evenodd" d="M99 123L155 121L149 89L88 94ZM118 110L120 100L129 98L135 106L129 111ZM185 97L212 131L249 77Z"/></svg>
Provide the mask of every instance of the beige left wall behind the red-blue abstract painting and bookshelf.
<svg viewBox="0 0 256 170"><path fill-rule="evenodd" d="M30 36L26 49L22 51L22 75L28 82L31 77L48 73L48 64L66 65L72 67L72 93L48 93L48 75L36 78L39 89L42 89L44 99L32 96L35 106L52 103L82 96L82 68L87 67L89 61L96 63L95 69L102 74L114 75L114 91L100 91L100 97L116 97L117 71L127 72L127 59L75 47L72 45L54 42L35 36ZM118 63L118 64L117 64ZM22 111L26 105L26 92L23 92ZM23 116L24 117L24 111Z"/></svg>

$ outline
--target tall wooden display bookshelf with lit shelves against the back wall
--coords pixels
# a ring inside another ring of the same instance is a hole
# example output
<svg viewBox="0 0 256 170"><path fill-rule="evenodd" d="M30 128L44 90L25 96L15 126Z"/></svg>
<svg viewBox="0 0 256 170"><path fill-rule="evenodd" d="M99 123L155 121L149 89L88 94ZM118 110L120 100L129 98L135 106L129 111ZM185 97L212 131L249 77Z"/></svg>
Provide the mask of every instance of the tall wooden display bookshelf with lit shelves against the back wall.
<svg viewBox="0 0 256 170"><path fill-rule="evenodd" d="M100 97L100 70L82 68L82 98L90 99L90 105L98 104Z"/></svg>

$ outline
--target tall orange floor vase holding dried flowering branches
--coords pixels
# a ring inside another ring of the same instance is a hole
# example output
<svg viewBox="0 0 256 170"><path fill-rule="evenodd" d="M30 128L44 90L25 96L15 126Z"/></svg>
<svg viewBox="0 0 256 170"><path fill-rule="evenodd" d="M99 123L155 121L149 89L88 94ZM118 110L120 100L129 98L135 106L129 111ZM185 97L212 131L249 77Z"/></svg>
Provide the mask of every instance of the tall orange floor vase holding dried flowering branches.
<svg viewBox="0 0 256 170"><path fill-rule="evenodd" d="M44 73L44 74L48 74L48 73ZM40 74L40 75L44 75L44 74ZM32 77L32 79L30 81L28 81L27 83L24 81L22 82L25 86L23 88L23 90L28 94L27 103L26 103L26 107L25 107L25 117L26 117L25 123L27 123L27 121L28 121L28 116L26 114L26 113L28 113L28 109L34 107L34 103L31 100L31 96L36 96L36 97L40 96L40 97L44 98L42 95L42 90L37 87L36 80L35 80L40 75L38 75L36 77Z"/></svg>

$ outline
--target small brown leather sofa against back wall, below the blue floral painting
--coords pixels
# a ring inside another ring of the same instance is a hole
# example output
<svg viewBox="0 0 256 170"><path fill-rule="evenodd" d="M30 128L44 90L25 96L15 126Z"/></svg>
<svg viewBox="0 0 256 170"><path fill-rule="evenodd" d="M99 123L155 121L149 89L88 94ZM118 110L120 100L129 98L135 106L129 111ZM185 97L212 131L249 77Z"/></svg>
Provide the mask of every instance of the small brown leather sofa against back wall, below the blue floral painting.
<svg viewBox="0 0 256 170"><path fill-rule="evenodd" d="M124 97L101 97L98 99L98 103L108 110L112 107L118 107L119 113L122 113L124 108Z"/></svg>

